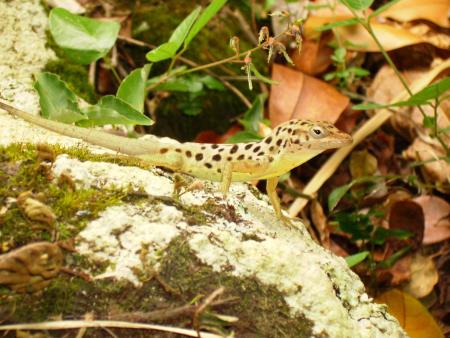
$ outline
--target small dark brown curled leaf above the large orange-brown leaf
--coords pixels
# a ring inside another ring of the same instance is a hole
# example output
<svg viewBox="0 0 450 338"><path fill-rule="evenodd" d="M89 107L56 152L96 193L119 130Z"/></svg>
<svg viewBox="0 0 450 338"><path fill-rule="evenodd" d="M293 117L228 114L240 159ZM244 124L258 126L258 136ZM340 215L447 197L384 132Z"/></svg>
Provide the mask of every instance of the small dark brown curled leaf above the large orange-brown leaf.
<svg viewBox="0 0 450 338"><path fill-rule="evenodd" d="M330 39L321 37L320 41L305 39L301 53L296 50L291 55L295 69L308 74L323 73L331 65L333 49L328 46Z"/></svg>

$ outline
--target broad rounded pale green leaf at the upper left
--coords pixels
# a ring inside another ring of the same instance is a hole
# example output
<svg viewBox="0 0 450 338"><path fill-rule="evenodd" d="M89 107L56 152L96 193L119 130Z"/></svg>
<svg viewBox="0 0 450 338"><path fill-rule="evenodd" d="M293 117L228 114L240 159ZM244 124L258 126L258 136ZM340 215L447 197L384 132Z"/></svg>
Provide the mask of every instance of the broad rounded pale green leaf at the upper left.
<svg viewBox="0 0 450 338"><path fill-rule="evenodd" d="M89 64L105 56L114 45L120 25L70 13L63 8L50 11L50 32L56 44L74 62Z"/></svg>

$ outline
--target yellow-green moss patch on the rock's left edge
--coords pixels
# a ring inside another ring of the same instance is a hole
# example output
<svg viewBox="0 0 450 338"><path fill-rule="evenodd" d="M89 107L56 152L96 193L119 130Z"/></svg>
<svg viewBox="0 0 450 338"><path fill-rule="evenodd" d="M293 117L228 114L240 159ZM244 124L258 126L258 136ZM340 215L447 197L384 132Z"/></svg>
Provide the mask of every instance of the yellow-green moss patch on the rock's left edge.
<svg viewBox="0 0 450 338"><path fill-rule="evenodd" d="M58 154L60 147L52 150ZM82 150L74 152L88 157ZM85 224L110 205L121 203L126 193L97 189L72 189L69 184L55 184L38 160L38 152L32 145L10 145L0 148L0 205L15 199L21 193L31 191L42 195L57 217L56 224L31 221L13 203L0 220L0 244L16 247L32 241L50 240L52 234L59 239L76 235ZM1 249L0 249L1 250Z"/></svg>

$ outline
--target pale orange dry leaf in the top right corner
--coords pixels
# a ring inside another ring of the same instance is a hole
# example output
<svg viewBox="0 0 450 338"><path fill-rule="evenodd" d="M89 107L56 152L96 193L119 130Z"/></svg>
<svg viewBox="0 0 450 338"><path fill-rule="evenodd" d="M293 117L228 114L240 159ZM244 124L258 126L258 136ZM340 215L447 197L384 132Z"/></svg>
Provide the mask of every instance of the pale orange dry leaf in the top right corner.
<svg viewBox="0 0 450 338"><path fill-rule="evenodd" d="M448 0L402 0L380 14L397 21L428 20L442 27L449 27Z"/></svg>

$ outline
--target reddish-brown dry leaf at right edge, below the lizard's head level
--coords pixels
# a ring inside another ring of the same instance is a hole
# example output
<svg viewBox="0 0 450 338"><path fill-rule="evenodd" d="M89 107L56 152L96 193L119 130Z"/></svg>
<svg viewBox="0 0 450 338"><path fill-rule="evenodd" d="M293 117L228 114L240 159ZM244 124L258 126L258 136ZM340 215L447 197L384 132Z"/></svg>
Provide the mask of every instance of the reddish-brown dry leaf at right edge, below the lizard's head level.
<svg viewBox="0 0 450 338"><path fill-rule="evenodd" d="M433 244L450 238L450 204L440 197L419 196L414 199L425 215L423 244Z"/></svg>

